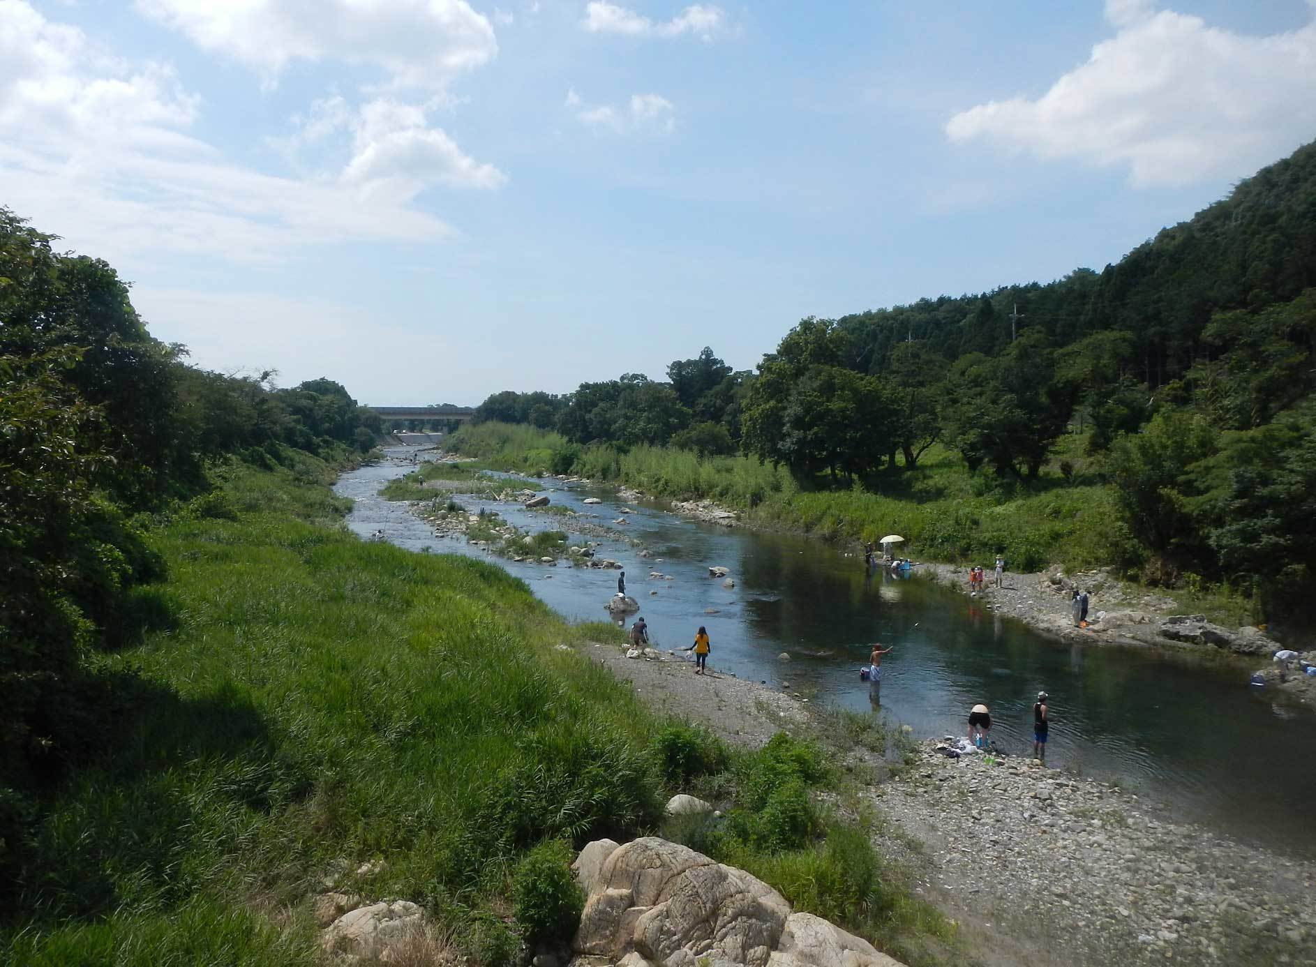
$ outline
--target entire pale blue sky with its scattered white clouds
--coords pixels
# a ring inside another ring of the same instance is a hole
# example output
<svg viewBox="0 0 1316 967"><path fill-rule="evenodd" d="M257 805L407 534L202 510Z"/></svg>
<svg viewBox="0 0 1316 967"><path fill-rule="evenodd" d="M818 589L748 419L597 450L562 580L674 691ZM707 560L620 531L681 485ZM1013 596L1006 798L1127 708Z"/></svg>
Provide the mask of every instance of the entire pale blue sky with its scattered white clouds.
<svg viewBox="0 0 1316 967"><path fill-rule="evenodd" d="M200 366L474 404L1100 268L1313 63L1316 0L0 0L0 204Z"/></svg>

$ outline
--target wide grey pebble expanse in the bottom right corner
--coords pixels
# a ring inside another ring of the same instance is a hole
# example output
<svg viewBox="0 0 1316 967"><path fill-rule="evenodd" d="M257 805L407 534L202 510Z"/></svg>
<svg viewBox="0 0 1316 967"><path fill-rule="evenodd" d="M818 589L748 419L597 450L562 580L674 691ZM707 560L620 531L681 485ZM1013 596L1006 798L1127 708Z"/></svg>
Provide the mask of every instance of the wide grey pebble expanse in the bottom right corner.
<svg viewBox="0 0 1316 967"><path fill-rule="evenodd" d="M1033 946L1032 963L1316 964L1316 864L1171 822L1117 785L938 745L871 801L923 845L924 896Z"/></svg>

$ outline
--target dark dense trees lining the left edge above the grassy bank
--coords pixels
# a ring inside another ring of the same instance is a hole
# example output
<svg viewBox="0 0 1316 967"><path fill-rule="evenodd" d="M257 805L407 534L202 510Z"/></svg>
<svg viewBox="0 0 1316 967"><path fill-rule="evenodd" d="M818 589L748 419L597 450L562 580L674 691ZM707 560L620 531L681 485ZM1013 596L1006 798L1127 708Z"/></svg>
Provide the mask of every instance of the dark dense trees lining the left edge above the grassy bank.
<svg viewBox="0 0 1316 967"><path fill-rule="evenodd" d="M53 241L0 208L0 893L33 796L96 755L136 697L97 653L172 620L134 596L163 568L151 517L191 499L190 513L230 513L208 496L225 454L341 459L378 424L330 380L271 389L183 364L113 268Z"/></svg>

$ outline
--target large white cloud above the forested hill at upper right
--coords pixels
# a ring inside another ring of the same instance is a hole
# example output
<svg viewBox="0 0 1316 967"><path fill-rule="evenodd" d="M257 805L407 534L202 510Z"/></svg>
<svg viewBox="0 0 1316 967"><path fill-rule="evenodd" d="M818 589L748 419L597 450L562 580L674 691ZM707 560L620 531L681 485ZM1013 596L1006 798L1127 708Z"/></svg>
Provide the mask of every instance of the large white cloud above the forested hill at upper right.
<svg viewBox="0 0 1316 967"><path fill-rule="evenodd" d="M1316 130L1316 22L1249 37L1150 0L1107 0L1116 34L1038 97L990 101L946 124L1053 161L1128 166L1136 186L1248 174Z"/></svg>

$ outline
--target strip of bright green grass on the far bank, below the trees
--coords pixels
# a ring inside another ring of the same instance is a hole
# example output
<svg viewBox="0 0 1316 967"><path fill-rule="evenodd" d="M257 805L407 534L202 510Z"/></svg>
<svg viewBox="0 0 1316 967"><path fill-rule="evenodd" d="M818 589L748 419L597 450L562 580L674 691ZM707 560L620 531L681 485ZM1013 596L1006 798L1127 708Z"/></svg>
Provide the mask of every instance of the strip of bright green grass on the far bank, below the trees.
<svg viewBox="0 0 1316 967"><path fill-rule="evenodd" d="M1100 458L1084 454L1086 437L1067 434L1032 484L1001 487L986 471L934 446L916 470L879 478L876 491L807 491L784 470L747 457L700 458L670 447L580 447L557 433L507 424L465 425L447 438L454 453L480 466L534 474L574 474L636 487L676 500L711 499L757 526L784 528L829 541L876 541L900 534L917 559L990 567L1004 553L1012 571L1059 564L1067 571L1138 558ZM1070 472L1066 476L1063 470ZM1225 625L1249 624L1252 603L1228 588L1187 575L1183 587L1157 588L1183 610Z"/></svg>

